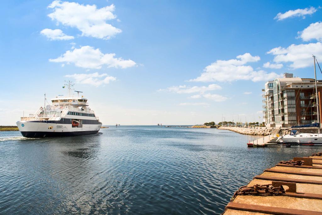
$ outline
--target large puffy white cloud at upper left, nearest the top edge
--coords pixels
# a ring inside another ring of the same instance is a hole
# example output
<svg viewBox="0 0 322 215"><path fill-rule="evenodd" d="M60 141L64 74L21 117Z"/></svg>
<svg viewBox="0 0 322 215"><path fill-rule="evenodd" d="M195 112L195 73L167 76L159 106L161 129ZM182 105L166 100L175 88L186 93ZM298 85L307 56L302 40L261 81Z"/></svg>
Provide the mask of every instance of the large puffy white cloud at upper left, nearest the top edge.
<svg viewBox="0 0 322 215"><path fill-rule="evenodd" d="M100 39L109 39L111 36L122 32L106 21L115 19L114 5L98 9L96 5L80 5L75 2L53 1L48 8L53 12L48 16L66 26L76 27L82 36L91 36Z"/></svg>

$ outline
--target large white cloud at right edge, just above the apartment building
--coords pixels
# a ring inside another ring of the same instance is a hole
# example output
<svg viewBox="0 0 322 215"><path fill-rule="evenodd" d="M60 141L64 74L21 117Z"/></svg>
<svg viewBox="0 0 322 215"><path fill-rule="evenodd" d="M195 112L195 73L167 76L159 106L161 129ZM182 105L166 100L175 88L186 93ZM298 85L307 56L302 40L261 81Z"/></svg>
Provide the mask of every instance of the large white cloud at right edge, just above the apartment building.
<svg viewBox="0 0 322 215"><path fill-rule="evenodd" d="M274 62L291 62L292 69L304 68L313 65L312 54L322 55L322 43L291 44L287 48L276 47L271 49L268 54L276 55Z"/></svg>

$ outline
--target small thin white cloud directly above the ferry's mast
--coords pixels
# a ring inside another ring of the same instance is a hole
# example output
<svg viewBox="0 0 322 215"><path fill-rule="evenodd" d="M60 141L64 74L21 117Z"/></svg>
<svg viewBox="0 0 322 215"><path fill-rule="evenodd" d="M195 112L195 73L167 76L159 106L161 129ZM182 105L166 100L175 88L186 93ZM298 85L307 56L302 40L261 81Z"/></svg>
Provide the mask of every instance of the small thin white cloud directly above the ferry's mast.
<svg viewBox="0 0 322 215"><path fill-rule="evenodd" d="M115 77L109 76L106 73L72 74L72 75L65 75L65 77L74 78L76 80L76 83L90 84L96 87L102 84L108 84L110 81L116 80Z"/></svg>

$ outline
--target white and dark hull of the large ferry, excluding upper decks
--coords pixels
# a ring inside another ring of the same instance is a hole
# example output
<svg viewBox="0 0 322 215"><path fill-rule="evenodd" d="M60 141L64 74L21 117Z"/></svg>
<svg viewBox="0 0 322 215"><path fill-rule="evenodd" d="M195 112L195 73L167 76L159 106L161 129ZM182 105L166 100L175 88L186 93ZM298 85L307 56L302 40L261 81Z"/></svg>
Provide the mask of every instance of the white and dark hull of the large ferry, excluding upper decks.
<svg viewBox="0 0 322 215"><path fill-rule="evenodd" d="M24 137L66 137L89 135L99 132L99 124L82 124L82 127L73 127L72 124L53 123L52 121L18 121L16 122L19 131Z"/></svg>

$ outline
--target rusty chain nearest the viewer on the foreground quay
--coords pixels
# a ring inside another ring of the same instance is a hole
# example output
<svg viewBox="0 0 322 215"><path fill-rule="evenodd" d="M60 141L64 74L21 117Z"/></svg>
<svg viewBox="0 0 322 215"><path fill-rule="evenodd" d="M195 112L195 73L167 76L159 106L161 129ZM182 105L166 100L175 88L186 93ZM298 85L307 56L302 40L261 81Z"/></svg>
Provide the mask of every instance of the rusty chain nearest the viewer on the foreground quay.
<svg viewBox="0 0 322 215"><path fill-rule="evenodd" d="M265 184L265 185L256 184L250 187L242 186L234 193L231 201L234 200L238 195L279 196L279 195L282 195L283 193L285 193L285 190L282 186L273 187L271 184Z"/></svg>

